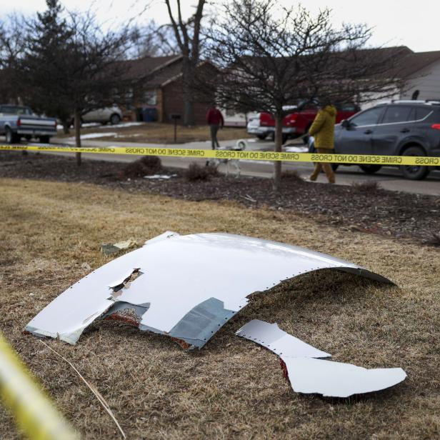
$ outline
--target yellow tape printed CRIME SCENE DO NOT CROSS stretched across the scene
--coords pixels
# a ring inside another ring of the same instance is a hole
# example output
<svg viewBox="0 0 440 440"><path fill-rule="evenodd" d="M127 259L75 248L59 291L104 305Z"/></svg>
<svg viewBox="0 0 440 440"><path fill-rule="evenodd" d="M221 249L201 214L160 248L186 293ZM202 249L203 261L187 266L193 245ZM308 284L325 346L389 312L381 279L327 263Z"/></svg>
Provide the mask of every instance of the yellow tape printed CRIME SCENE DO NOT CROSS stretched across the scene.
<svg viewBox="0 0 440 440"><path fill-rule="evenodd" d="M376 154L290 153L275 151L241 151L222 149L202 150L186 148L160 148L149 146L108 146L101 148L87 146L77 148L74 146L0 145L0 150L54 151L85 154L131 154L133 156L189 157L195 159L328 162L332 164L440 166L440 157L436 156L381 156Z"/></svg>

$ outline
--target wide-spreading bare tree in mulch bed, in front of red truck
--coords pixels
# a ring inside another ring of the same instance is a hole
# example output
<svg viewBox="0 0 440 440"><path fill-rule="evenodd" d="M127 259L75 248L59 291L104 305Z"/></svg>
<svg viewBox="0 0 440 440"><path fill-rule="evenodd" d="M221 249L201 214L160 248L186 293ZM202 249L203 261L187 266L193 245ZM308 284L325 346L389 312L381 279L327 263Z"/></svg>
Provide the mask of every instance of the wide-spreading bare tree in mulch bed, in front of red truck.
<svg viewBox="0 0 440 440"><path fill-rule="evenodd" d="M274 115L275 151L281 151L284 106L304 99L353 99L391 84L384 56L361 54L371 36L364 25L331 25L329 9L311 16L302 6L274 0L233 0L211 22L208 56L222 74L208 82L217 99L239 111ZM274 163L274 189L281 162Z"/></svg>

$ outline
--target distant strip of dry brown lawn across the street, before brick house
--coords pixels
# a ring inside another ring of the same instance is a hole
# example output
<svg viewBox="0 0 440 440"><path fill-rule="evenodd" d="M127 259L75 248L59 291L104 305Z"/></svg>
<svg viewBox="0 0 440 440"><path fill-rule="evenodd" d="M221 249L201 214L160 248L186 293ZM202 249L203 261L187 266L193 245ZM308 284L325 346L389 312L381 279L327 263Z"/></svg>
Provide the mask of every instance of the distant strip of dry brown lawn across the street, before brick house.
<svg viewBox="0 0 440 440"><path fill-rule="evenodd" d="M173 144L174 143L174 126L172 124L159 124L158 122L146 122L145 124L138 126L117 127L114 128L111 125L107 126L94 126L84 127L81 129L81 134L89 133L116 133L114 136L97 138L96 140L103 141L119 141L119 142L152 142L154 144ZM64 139L66 137L74 136L73 130L71 134L62 134L62 131L58 132L57 137ZM246 133L245 128L238 127L224 127L219 130L217 134L219 141L230 141L233 139L247 139L251 136ZM209 134L209 126L177 126L177 143L183 144L184 142L194 141L209 141L211 135ZM85 142L85 140L84 140Z"/></svg>

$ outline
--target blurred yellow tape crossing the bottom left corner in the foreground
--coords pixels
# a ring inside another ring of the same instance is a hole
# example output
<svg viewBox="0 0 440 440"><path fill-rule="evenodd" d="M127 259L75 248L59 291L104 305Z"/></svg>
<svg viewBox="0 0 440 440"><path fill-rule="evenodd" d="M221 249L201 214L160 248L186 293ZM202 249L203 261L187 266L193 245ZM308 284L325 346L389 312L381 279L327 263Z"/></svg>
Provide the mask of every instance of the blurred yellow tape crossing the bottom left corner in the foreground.
<svg viewBox="0 0 440 440"><path fill-rule="evenodd" d="M0 334L0 396L31 440L78 440Z"/></svg>

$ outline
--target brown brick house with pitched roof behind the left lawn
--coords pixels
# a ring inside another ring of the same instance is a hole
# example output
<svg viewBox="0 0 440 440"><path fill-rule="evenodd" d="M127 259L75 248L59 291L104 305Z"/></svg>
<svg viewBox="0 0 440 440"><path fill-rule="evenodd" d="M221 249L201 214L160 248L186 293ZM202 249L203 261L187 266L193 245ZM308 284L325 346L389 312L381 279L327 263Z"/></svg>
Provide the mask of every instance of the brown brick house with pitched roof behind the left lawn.
<svg viewBox="0 0 440 440"><path fill-rule="evenodd" d="M183 117L181 55L146 56L121 63L124 69L124 86L116 92L116 101L124 104L126 116L140 119L141 115L148 114L148 120L159 122L171 122L171 114L180 114ZM199 69L203 69L203 63ZM208 102L206 96L195 99L195 124L206 123Z"/></svg>

